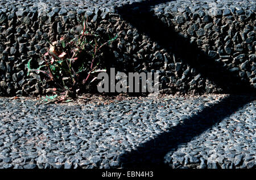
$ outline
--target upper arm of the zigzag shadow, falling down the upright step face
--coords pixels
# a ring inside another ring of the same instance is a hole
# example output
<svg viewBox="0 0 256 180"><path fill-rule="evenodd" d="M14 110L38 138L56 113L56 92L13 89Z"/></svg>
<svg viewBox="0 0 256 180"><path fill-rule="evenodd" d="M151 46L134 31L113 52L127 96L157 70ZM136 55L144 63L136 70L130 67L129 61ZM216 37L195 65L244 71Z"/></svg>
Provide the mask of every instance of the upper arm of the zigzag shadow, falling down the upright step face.
<svg viewBox="0 0 256 180"><path fill-rule="evenodd" d="M167 50L171 48L171 53L175 54L176 59L195 68L202 78L214 82L225 93L255 91L248 78L241 80L238 71L226 69L223 62L216 61L216 57L205 54L196 44L191 44L188 38L179 35L173 27L168 27L150 10L151 6L169 1L135 2L131 5L117 7L116 10L126 22L132 24L139 32L145 33L161 48Z"/></svg>

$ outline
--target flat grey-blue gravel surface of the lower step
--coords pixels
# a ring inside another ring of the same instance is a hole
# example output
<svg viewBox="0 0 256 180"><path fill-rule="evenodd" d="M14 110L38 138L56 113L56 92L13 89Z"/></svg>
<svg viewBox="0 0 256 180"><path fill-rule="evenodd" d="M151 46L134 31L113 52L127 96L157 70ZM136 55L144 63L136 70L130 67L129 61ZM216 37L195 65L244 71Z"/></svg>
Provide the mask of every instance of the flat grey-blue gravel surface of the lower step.
<svg viewBox="0 0 256 180"><path fill-rule="evenodd" d="M255 95L2 97L0 168L255 168L255 107Z"/></svg>

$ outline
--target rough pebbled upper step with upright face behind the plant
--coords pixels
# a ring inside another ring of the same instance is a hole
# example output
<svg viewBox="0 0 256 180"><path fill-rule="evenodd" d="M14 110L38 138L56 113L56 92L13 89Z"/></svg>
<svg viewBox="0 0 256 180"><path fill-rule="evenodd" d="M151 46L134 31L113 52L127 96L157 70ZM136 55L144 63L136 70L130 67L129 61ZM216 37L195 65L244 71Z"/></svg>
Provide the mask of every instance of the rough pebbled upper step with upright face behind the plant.
<svg viewBox="0 0 256 180"><path fill-rule="evenodd" d="M160 73L168 93L255 91L255 1L0 2L0 96L44 93L42 75L27 75L50 41L79 24L117 41L105 61L122 72ZM43 38L44 37L44 38ZM242 87L242 88L241 88Z"/></svg>

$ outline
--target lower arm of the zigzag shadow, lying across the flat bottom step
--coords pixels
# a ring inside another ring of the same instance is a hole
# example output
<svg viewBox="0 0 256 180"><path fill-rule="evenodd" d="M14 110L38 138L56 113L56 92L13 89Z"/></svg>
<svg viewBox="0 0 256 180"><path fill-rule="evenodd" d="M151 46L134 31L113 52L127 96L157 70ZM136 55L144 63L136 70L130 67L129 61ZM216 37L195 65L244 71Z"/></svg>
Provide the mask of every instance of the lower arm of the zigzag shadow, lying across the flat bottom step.
<svg viewBox="0 0 256 180"><path fill-rule="evenodd" d="M123 153L119 157L122 168L167 168L164 156L170 149L176 149L181 143L190 142L195 136L220 123L222 119L255 99L255 96L245 98L237 95L223 98L219 103L204 108L197 115L184 119L183 123L141 144L136 150Z"/></svg>

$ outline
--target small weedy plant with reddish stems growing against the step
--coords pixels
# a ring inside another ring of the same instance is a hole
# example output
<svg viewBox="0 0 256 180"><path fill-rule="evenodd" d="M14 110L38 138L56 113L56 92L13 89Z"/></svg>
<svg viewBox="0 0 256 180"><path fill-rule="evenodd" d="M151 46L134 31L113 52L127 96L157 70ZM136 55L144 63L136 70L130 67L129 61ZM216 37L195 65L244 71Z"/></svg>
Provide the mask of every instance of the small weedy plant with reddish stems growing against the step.
<svg viewBox="0 0 256 180"><path fill-rule="evenodd" d="M43 64L32 69L30 59L27 64L28 75L30 72L42 72L48 77L48 82L55 85L51 89L53 95L46 96L45 101L70 101L82 88L97 79L97 72L106 71L100 62L100 50L116 38L104 42L92 32L88 27L88 18L83 16L79 35L69 31L60 40L46 40L50 47L42 57Z"/></svg>

